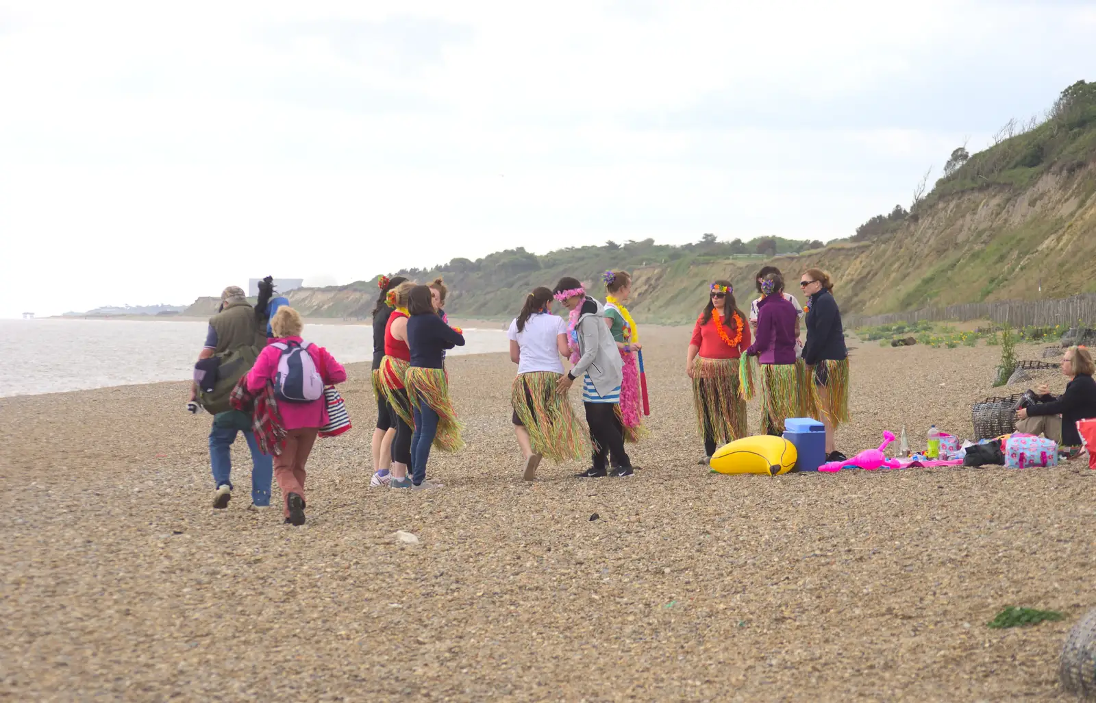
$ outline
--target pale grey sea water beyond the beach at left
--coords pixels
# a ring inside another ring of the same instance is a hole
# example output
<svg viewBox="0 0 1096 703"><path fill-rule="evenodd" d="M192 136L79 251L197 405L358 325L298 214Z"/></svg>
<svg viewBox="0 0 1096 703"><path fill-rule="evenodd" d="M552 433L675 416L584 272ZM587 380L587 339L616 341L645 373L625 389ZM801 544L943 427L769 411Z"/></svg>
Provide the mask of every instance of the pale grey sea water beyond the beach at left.
<svg viewBox="0 0 1096 703"><path fill-rule="evenodd" d="M0 320L0 397L192 377L204 321ZM465 328L449 354L503 352L501 329ZM369 325L305 324L305 339L349 364L373 359Z"/></svg>

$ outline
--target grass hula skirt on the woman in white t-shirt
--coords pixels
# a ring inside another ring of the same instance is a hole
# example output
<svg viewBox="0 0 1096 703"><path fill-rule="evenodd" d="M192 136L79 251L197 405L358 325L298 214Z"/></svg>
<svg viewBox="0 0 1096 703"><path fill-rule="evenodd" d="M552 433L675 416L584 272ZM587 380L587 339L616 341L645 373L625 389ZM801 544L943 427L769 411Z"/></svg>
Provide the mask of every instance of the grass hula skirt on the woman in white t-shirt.
<svg viewBox="0 0 1096 703"><path fill-rule="evenodd" d="M534 452L553 462L581 460L590 453L590 433L574 415L567 394L556 392L558 381L559 374L550 371L520 374L510 401L529 433Z"/></svg>

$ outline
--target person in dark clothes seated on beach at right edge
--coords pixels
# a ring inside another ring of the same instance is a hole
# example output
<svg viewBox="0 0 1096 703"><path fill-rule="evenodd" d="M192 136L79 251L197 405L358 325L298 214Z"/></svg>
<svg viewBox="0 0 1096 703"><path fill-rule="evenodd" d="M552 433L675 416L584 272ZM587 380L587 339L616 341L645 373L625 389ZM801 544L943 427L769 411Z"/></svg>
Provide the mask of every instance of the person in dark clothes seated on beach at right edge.
<svg viewBox="0 0 1096 703"><path fill-rule="evenodd" d="M1070 347L1062 356L1062 374L1070 378L1065 393L1057 400L1037 402L1017 410L1016 431L1026 434L1042 433L1059 445L1080 446L1077 420L1096 418L1094 371L1096 365L1093 364L1092 352L1084 347ZM1038 392L1046 396L1049 388L1044 384Z"/></svg>

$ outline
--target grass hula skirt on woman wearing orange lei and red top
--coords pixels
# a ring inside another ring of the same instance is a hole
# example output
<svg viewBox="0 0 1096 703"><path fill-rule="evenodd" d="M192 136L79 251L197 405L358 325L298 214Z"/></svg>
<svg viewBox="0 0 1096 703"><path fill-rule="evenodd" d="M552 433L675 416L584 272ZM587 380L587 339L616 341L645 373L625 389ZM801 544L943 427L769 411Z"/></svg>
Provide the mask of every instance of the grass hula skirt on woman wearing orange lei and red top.
<svg viewBox="0 0 1096 703"><path fill-rule="evenodd" d="M693 407L700 436L726 444L746 435L746 402L739 374L738 359L697 356L693 362Z"/></svg>

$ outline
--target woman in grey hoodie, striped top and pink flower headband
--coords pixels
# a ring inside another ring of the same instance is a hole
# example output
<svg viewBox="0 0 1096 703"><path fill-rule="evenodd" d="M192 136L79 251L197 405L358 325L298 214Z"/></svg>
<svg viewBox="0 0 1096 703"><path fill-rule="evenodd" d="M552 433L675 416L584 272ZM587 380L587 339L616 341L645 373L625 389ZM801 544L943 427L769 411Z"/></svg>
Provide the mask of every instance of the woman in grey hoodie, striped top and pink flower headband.
<svg viewBox="0 0 1096 703"><path fill-rule="evenodd" d="M613 476L631 476L635 469L624 449L624 433L617 420L623 371L620 352L605 325L605 308L586 295L576 279L563 276L553 291L557 301L571 311L568 324L568 347L573 366L560 376L556 387L567 393L575 378L582 377L582 406L586 411L590 439L593 443L593 466L579 478L608 476L608 457L619 466Z"/></svg>

